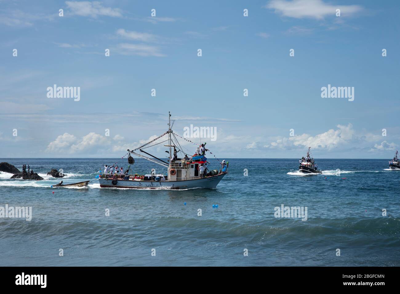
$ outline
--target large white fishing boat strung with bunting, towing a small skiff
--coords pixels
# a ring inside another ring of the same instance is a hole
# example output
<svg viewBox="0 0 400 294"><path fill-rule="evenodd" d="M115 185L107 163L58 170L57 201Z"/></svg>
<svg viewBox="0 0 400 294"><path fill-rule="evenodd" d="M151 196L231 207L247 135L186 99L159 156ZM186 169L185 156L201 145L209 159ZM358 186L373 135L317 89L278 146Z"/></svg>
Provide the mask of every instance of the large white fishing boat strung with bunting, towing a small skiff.
<svg viewBox="0 0 400 294"><path fill-rule="evenodd" d="M198 149L196 150L196 154L194 154L192 157L186 157L186 154L182 152L182 147L177 139L178 137L181 139L184 138L180 137L178 134L172 131L172 126L174 125L174 122L175 120L171 119L171 114L170 112L168 112L168 131L140 147L132 150L128 149L128 153L126 154L128 155L127 159L130 165L134 163L132 155L136 155L138 157L144 158L148 161L152 161L153 163L166 167L166 175L156 174L155 169L152 169L151 173L142 176L138 174L113 175L105 170L105 172L100 173L98 177L100 187L133 189L216 188L218 183L228 173L229 163L225 164L225 161L223 161L220 171L218 171L218 169L208 171L208 169L206 168L208 164L207 158L205 157L205 154L200 155L199 153L197 153ZM156 141L161 138L165 139L164 136L168 136L168 139L156 143ZM168 142L168 144L164 145L168 147L168 151L165 151L166 153L168 153L168 159L165 159L167 161L155 157L154 155L151 155L147 151L143 150L145 148L149 148L163 142ZM178 152L182 155L181 158L178 158ZM144 155L143 153L146 155ZM184 156L186 158L184 158Z"/></svg>

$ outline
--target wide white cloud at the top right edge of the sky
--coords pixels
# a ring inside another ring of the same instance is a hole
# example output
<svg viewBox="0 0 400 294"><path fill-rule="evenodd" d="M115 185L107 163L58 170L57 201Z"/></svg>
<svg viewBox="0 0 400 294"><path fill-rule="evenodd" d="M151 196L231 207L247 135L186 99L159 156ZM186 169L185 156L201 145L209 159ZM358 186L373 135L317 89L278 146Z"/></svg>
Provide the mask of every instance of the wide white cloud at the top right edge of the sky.
<svg viewBox="0 0 400 294"><path fill-rule="evenodd" d="M354 15L363 10L360 5L332 5L322 0L271 0L265 8L274 9L282 16L292 18L323 19L325 16L335 16L336 9L340 9L340 15Z"/></svg>

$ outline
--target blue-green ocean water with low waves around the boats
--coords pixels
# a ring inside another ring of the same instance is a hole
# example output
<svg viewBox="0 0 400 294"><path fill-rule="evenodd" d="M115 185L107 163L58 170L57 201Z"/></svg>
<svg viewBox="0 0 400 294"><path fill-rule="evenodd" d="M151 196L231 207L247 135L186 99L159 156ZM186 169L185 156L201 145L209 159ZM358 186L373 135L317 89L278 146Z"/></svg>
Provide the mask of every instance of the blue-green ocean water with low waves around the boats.
<svg viewBox="0 0 400 294"><path fill-rule="evenodd" d="M60 179L46 175L62 168L64 183L93 180L103 164L125 168L126 159L0 159L45 178L0 173L0 206L32 207L31 221L0 219L0 266L400 265L400 171L388 170L389 159L316 159L322 175L300 175L298 159L227 160L217 189L177 191L96 180L56 189ZM135 161L140 174L166 171ZM276 218L281 205L307 207L307 220Z"/></svg>

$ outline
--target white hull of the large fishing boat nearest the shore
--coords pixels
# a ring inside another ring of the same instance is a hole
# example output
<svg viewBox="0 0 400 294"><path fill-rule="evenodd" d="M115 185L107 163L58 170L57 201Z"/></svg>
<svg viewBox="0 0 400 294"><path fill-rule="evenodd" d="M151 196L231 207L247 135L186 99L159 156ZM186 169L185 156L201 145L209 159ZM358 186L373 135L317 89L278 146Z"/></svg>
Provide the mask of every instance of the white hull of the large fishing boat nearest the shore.
<svg viewBox="0 0 400 294"><path fill-rule="evenodd" d="M101 188L133 188L133 189L192 189L192 188L216 188L218 183L227 173L222 173L212 177L183 180L183 181L132 181L116 180L116 185L112 184L112 179L101 179Z"/></svg>

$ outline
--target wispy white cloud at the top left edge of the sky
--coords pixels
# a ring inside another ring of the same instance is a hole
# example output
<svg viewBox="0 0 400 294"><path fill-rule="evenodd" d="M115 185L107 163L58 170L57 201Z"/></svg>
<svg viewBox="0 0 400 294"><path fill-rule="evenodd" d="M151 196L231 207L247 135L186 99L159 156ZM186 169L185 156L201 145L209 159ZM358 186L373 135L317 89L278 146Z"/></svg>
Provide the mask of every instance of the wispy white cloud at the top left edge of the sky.
<svg viewBox="0 0 400 294"><path fill-rule="evenodd" d="M119 8L110 8L102 6L98 1L66 1L71 13L79 16L89 16L97 18L98 16L122 17L122 12Z"/></svg>

